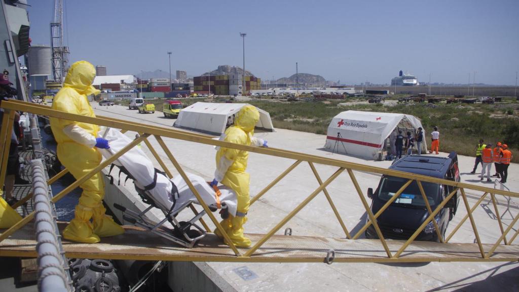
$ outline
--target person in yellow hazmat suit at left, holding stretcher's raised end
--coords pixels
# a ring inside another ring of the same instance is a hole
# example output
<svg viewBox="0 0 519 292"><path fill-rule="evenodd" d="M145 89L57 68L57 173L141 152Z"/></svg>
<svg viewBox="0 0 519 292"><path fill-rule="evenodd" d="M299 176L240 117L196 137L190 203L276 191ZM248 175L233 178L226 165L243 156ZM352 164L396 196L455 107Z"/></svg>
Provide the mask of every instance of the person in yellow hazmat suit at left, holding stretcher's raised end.
<svg viewBox="0 0 519 292"><path fill-rule="evenodd" d="M63 88L52 102L52 109L72 114L95 117L88 102L89 95L99 94L92 86L95 77L93 65L87 61L72 64L65 77ZM58 142L58 158L71 174L79 179L101 163L97 148L110 148L108 141L97 138L97 125L50 118L50 126ZM124 233L114 220L105 215L103 206L104 182L100 173L80 185L83 193L79 197L74 219L63 231L67 240L82 243L97 243L99 237ZM90 219L93 218L93 224Z"/></svg>

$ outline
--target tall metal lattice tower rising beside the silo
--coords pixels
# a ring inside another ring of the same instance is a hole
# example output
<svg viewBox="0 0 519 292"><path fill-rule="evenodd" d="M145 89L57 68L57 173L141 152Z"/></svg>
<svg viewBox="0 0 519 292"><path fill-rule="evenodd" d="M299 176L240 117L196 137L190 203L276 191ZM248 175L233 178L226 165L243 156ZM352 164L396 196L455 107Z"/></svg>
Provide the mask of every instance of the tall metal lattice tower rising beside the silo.
<svg viewBox="0 0 519 292"><path fill-rule="evenodd" d="M54 82L63 83L64 75L69 70L69 47L63 46L63 0L54 0L54 22L50 23L50 46Z"/></svg>

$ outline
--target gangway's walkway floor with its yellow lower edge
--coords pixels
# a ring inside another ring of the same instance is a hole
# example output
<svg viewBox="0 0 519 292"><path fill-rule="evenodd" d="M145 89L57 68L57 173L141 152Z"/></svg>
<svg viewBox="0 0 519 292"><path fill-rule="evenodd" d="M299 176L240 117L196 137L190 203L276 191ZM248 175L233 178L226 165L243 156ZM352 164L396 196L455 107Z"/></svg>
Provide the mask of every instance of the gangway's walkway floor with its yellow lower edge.
<svg viewBox="0 0 519 292"><path fill-rule="evenodd" d="M59 223L62 230L66 223ZM166 261L220 262L326 262L333 250L331 262L429 262L429 261L519 261L518 245L499 245L489 258L482 258L477 244L413 242L399 258L388 258L379 240L348 240L313 236L274 235L251 257L237 257L214 234L208 234L194 248L183 248L170 241L133 226L126 233L104 237L98 244L63 241L69 258L102 258ZM263 234L247 234L257 242ZM388 240L391 251L405 241ZM36 257L36 241L32 224L0 242L0 256ZM483 244L485 251L491 244ZM240 249L245 251L247 249Z"/></svg>

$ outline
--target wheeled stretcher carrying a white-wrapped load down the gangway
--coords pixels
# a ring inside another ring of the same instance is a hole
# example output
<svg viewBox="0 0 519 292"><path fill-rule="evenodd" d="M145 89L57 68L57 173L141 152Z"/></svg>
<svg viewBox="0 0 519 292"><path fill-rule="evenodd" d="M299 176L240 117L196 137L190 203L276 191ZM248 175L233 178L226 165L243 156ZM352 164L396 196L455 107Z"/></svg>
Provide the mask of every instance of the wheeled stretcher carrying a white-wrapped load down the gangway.
<svg viewBox="0 0 519 292"><path fill-rule="evenodd" d="M111 157L132 141L119 130L112 128L101 129L99 134L110 144L109 149L99 149L105 158ZM127 179L132 179L135 190L143 202L149 205L139 213L114 204L115 208L122 211L124 220L188 248L193 247L206 236L206 231L197 224L200 218L206 215L203 209L187 221L179 221L176 218L189 205L200 204L181 176L169 179L164 172L153 166L151 160L138 147L121 155L114 165L119 168L119 178L120 173L123 172L127 175ZM236 216L237 200L233 190L225 186L212 188L202 177L187 172L186 175L211 211L220 210L224 219L229 214ZM113 183L110 173L108 176ZM146 216L146 213L153 208L162 211L164 218L160 222L154 222ZM172 228L166 226L167 222Z"/></svg>

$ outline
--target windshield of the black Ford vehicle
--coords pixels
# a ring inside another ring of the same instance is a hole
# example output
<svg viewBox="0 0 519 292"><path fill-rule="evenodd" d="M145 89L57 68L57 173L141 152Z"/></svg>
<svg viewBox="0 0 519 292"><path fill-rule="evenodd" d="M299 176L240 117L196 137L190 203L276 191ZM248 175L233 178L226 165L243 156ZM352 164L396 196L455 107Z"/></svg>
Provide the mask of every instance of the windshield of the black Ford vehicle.
<svg viewBox="0 0 519 292"><path fill-rule="evenodd" d="M383 201L388 201L395 193L400 190L402 185L407 182L405 178L399 177L390 177L385 176L382 179L382 183L380 184L378 198ZM440 187L436 183L431 182L422 182L422 187L424 187L425 194L427 196L427 201L431 206L438 205L442 198L440 197L440 192L438 188ZM413 181L408 187L400 194L400 196L394 200L392 204L399 205L408 205L408 206L417 206L417 207L425 207L424 197L422 197L420 189L418 188L418 184L416 181Z"/></svg>

